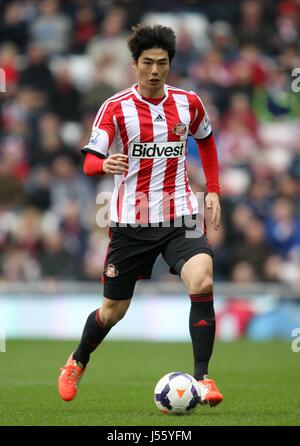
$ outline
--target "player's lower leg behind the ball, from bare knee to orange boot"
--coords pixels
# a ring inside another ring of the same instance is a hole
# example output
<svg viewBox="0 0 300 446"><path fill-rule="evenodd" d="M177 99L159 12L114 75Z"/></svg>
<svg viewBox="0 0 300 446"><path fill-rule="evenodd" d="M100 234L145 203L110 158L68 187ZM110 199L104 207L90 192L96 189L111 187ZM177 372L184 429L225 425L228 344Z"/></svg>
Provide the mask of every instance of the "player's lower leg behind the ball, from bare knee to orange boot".
<svg viewBox="0 0 300 446"><path fill-rule="evenodd" d="M194 353L194 376L202 390L202 402L215 406L223 400L214 380L208 378L208 364L215 340L213 263L210 255L199 253L184 263L181 278L190 299L189 328Z"/></svg>

